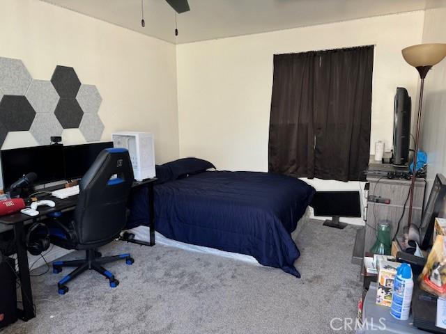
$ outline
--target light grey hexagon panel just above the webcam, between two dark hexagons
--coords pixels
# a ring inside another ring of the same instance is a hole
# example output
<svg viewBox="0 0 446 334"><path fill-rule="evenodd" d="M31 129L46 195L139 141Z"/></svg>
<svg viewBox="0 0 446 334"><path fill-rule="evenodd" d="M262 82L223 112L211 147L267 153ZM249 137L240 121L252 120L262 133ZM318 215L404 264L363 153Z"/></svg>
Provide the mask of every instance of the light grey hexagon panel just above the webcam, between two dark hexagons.
<svg viewBox="0 0 446 334"><path fill-rule="evenodd" d="M36 113L29 132L39 145L49 145L52 136L61 136L63 131L61 123L54 113Z"/></svg>

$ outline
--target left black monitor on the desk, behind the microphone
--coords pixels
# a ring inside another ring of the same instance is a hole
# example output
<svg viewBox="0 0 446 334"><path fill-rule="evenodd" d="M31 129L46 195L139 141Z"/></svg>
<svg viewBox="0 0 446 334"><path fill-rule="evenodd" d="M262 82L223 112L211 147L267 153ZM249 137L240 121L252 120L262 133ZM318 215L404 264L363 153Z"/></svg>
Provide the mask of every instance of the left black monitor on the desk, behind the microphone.
<svg viewBox="0 0 446 334"><path fill-rule="evenodd" d="M45 184L65 179L63 146L44 145L0 151L3 189L27 173L36 173L34 184Z"/></svg>

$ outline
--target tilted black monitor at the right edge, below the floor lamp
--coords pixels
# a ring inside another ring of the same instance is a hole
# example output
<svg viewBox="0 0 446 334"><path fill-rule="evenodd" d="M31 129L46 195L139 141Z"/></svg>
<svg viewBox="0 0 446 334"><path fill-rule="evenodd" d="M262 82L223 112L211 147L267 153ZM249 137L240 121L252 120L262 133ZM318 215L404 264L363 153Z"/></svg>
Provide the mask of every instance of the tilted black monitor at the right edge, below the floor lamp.
<svg viewBox="0 0 446 334"><path fill-rule="evenodd" d="M445 218L446 214L446 178L442 174L437 174L432 184L431 194L424 209L421 224L420 237L423 250L432 245L433 228L435 218Z"/></svg>

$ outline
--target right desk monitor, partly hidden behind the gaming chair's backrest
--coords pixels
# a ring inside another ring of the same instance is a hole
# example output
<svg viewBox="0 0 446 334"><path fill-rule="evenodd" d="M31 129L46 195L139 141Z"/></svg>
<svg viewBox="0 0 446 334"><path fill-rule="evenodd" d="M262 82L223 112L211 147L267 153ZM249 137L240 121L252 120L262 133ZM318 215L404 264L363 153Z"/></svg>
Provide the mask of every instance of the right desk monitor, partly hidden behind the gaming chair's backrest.
<svg viewBox="0 0 446 334"><path fill-rule="evenodd" d="M63 146L66 179L75 180L84 176L98 154L105 148L113 148L113 142Z"/></svg>

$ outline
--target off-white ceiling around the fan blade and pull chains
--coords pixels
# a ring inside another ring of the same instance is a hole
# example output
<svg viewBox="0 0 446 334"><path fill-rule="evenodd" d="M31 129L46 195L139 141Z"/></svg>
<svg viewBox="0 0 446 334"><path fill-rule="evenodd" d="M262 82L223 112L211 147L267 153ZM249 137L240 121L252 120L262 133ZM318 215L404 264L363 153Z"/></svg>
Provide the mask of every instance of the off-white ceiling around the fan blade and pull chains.
<svg viewBox="0 0 446 334"><path fill-rule="evenodd" d="M309 26L445 6L446 0L189 0L178 15L164 0L41 0L173 43Z"/></svg>

